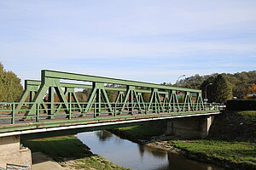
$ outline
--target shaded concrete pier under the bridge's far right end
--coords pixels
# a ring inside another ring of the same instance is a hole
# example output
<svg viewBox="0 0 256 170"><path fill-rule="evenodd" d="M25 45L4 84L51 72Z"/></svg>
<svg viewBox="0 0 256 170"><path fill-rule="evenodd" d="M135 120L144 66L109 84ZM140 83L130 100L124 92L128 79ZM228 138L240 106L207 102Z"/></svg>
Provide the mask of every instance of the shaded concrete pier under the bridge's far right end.
<svg viewBox="0 0 256 170"><path fill-rule="evenodd" d="M214 116L187 117L167 122L166 134L181 136L187 139L206 138Z"/></svg>

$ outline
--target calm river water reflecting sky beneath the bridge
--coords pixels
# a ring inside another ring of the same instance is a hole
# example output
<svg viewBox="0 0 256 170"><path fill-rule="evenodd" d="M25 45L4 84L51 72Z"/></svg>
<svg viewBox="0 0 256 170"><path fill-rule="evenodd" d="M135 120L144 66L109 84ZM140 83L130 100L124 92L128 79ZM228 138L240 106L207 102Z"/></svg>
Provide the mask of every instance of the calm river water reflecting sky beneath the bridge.
<svg viewBox="0 0 256 170"><path fill-rule="evenodd" d="M192 161L172 152L120 139L108 131L79 133L78 138L93 153L135 170L224 170L222 167Z"/></svg>

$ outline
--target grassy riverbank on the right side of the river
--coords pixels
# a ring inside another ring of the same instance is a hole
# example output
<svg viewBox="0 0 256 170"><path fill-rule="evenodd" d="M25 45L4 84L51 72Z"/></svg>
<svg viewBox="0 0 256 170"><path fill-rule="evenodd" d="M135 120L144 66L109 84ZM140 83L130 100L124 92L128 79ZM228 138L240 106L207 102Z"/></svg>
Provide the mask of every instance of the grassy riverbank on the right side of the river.
<svg viewBox="0 0 256 170"><path fill-rule="evenodd" d="M155 136L157 130L150 123L110 131L125 139L172 150L197 161L231 169L256 169L255 117L256 111L227 112L216 116L209 136L201 140L179 140L179 137L163 134Z"/></svg>

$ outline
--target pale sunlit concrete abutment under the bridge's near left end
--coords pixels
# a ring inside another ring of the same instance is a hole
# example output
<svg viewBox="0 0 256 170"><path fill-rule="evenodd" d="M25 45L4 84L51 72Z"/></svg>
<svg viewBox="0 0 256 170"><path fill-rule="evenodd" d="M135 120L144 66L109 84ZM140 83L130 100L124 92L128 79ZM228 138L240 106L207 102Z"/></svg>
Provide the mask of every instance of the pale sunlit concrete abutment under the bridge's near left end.
<svg viewBox="0 0 256 170"><path fill-rule="evenodd" d="M0 137L0 167L6 163L31 167L31 150L20 146L20 135Z"/></svg>

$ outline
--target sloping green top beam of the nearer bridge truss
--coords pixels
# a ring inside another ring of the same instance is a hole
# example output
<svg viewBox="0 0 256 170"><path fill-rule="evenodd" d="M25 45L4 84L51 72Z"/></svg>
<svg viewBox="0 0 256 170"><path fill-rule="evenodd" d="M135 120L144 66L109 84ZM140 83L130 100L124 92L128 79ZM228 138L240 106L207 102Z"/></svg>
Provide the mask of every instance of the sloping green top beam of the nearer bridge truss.
<svg viewBox="0 0 256 170"><path fill-rule="evenodd" d="M190 88L177 88L171 86L165 86L160 84L154 84L149 82L136 82L136 81L129 81L117 78L109 78L109 77L95 77L90 75L82 75L77 73L69 73L69 72L62 72L62 71L49 71L49 70L42 70L42 81L44 78L51 77L51 78L58 78L58 79L67 79L67 80L76 80L76 81L83 81L83 82L102 82L102 83L113 83L113 84L121 84L126 86L136 86L136 87L144 87L144 88L159 88L159 89L166 89L166 90L179 90L191 93L201 93L201 90L197 89L190 89Z"/></svg>

